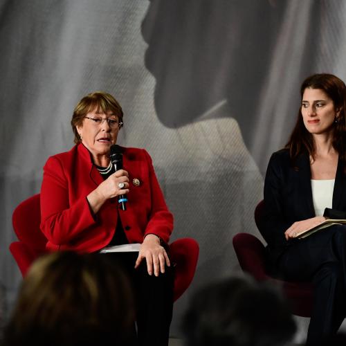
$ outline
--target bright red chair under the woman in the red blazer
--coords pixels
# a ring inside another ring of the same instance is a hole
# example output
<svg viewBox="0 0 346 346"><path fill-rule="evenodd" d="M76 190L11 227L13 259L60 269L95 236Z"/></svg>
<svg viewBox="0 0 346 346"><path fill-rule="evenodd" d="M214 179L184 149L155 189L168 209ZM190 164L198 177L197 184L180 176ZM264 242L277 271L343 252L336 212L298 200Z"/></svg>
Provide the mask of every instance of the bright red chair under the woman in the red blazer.
<svg viewBox="0 0 346 346"><path fill-rule="evenodd" d="M12 215L18 241L10 244L10 252L23 277L37 257L47 253L47 239L39 229L41 211L39 194L21 202ZM170 256L175 264L174 301L190 286L196 271L199 245L192 238L181 238L170 244Z"/></svg>

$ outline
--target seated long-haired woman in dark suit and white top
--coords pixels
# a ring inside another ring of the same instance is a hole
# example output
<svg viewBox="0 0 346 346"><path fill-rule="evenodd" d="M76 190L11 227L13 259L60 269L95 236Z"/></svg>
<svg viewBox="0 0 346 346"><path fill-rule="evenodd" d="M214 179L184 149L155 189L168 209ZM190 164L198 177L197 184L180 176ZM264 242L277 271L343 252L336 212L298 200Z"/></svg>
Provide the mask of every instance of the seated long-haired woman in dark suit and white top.
<svg viewBox="0 0 346 346"><path fill-rule="evenodd" d="M289 142L268 164L262 234L277 275L313 283L307 345L321 345L346 314L346 227L296 236L327 217L346 219L346 87L317 74L304 80L301 96Z"/></svg>

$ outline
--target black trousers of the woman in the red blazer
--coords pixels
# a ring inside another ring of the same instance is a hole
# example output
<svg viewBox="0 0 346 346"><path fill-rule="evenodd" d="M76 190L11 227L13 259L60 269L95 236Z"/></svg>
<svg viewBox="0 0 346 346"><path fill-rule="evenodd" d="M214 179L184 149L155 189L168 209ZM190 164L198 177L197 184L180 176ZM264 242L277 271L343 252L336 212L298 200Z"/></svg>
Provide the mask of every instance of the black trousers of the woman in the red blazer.
<svg viewBox="0 0 346 346"><path fill-rule="evenodd" d="M134 268L138 253L107 253L125 271L136 300L137 345L167 346L173 310L174 268L165 267L158 277L147 273L143 260Z"/></svg>

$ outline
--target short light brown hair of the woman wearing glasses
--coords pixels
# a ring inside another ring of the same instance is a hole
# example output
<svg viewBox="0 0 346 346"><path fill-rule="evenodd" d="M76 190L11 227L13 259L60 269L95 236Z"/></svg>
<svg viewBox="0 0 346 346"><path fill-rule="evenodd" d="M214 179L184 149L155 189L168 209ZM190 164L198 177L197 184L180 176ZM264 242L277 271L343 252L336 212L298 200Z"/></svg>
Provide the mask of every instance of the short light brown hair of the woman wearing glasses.
<svg viewBox="0 0 346 346"><path fill-rule="evenodd" d="M89 93L84 96L77 106L73 110L73 116L71 120L71 125L73 133L75 134L74 142L76 144L80 143L80 135L77 131L77 126L82 125L83 119L89 111L96 109L98 112L108 113L111 111L115 116L118 116L120 127L123 124L122 117L124 113L119 102L113 98L109 93L104 93L103 91L95 91L95 93Z"/></svg>

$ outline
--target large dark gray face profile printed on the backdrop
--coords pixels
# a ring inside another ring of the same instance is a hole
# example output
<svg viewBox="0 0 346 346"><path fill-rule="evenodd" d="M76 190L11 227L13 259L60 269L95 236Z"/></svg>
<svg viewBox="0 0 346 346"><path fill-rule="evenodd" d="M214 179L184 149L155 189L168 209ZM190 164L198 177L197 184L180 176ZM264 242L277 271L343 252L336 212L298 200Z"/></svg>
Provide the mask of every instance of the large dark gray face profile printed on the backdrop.
<svg viewBox="0 0 346 346"><path fill-rule="evenodd" d="M177 128L206 118L226 100L228 116L237 119L249 147L285 3L150 1L142 23L145 66L156 79L154 102L163 125Z"/></svg>

